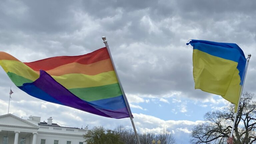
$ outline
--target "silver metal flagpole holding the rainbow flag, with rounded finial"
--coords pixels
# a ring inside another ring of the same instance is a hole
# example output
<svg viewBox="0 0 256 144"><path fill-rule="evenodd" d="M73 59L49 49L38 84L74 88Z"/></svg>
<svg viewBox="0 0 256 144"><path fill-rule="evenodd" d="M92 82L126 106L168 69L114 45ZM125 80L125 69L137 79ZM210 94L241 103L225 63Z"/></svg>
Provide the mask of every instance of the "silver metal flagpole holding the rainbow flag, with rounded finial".
<svg viewBox="0 0 256 144"><path fill-rule="evenodd" d="M107 40L106 40L106 37L103 36L103 37L102 37L102 40L103 40L103 43L105 44L105 46L106 46L106 48L107 48L107 50L108 50L108 54L109 54L110 60L111 60L111 62L112 62L112 66L113 66L114 71L115 71L115 73L116 73L117 81L118 81L119 86L120 86L120 88L121 88L121 91L122 91L122 94L123 94L123 97L124 97L124 100L125 100L125 105L126 105L126 107L127 107L127 110L128 110L128 113L129 113L131 122L132 122L132 127L133 127L133 130L134 130L135 136L136 136L136 138L137 138L137 143L140 144L139 136L138 136L138 133L137 133L137 131L136 131L136 128L135 128L135 125L134 125L134 122L133 122L133 117L132 117L132 114L131 114L131 109L130 109L129 103L128 103L128 101L127 101L126 95L125 95L125 93L124 93L123 86L122 86L122 84L121 84L121 82L120 82L120 79L119 79L119 76L118 76L118 74L117 74L116 67L115 67L115 65L114 65L114 61L113 61L113 59L112 59L112 56L111 56L111 53L110 53L110 49L109 49L109 47L108 47L108 42L107 42Z"/></svg>

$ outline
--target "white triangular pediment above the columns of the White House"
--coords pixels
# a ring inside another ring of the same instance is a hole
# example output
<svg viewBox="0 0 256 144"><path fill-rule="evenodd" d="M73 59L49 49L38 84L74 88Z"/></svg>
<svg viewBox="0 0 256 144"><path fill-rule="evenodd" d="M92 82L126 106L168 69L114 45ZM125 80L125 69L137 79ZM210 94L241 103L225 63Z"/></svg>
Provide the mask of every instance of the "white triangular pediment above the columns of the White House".
<svg viewBox="0 0 256 144"><path fill-rule="evenodd" d="M13 114L5 114L0 116L0 126L8 127L23 127L23 128L37 128L39 126L32 124L26 120L23 120Z"/></svg>

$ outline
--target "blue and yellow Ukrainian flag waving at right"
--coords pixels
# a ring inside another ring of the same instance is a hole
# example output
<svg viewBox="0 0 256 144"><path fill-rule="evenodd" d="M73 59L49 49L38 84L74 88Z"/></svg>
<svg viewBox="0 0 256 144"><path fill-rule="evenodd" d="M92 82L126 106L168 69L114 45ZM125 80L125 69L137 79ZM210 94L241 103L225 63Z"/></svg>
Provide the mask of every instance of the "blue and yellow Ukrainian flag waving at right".
<svg viewBox="0 0 256 144"><path fill-rule="evenodd" d="M234 43L204 40L189 44L193 46L195 89L221 95L237 107L246 65L242 49Z"/></svg>

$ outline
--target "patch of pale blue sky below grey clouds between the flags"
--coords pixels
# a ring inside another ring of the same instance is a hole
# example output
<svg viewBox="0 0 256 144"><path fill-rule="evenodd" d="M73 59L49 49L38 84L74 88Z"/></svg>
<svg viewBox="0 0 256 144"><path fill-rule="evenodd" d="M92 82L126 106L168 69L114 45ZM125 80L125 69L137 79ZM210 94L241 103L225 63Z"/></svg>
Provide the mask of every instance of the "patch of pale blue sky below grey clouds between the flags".
<svg viewBox="0 0 256 144"><path fill-rule="evenodd" d="M160 101L159 98L150 98L148 103L132 103L133 105L140 106L139 108L131 108L133 113L143 113L158 117L162 120L189 120L197 121L204 120L203 116L205 113L216 110L225 106L222 98L215 95L212 100L202 102L195 101L188 98L164 98L168 102Z"/></svg>

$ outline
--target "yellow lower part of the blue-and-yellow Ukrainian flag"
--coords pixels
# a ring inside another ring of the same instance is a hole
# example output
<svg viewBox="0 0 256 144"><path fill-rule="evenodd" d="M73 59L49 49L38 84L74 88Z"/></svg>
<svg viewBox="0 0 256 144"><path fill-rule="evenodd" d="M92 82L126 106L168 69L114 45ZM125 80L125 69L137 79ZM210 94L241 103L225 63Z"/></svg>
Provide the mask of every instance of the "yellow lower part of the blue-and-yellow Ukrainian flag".
<svg viewBox="0 0 256 144"><path fill-rule="evenodd" d="M238 105L241 92L237 62L193 50L193 76L195 89L221 95Z"/></svg>

